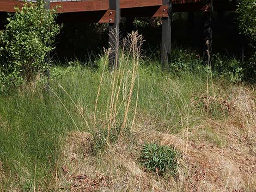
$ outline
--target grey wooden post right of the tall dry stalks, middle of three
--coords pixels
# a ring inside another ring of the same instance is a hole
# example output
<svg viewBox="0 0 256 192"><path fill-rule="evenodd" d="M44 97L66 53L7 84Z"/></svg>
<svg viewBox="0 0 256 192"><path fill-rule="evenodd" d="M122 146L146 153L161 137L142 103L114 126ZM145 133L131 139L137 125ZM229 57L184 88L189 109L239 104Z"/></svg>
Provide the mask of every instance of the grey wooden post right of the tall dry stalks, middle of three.
<svg viewBox="0 0 256 192"><path fill-rule="evenodd" d="M168 5L168 17L162 18L162 46L161 46L161 63L163 69L167 69L170 48L171 48L171 22L172 22L172 2L163 0L163 5Z"/></svg>

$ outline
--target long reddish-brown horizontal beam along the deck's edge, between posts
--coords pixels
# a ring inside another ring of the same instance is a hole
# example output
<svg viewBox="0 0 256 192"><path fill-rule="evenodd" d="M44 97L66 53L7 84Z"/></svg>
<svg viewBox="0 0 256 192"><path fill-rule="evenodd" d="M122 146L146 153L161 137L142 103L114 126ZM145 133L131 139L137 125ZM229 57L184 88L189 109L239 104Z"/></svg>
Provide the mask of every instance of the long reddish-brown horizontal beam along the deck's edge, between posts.
<svg viewBox="0 0 256 192"><path fill-rule="evenodd" d="M14 12L14 7L22 7L22 1L16 0L0 0L0 11ZM146 8L163 5L162 0L119 0L120 9L127 8ZM204 0L172 0L173 12L194 12L200 11L200 3ZM81 11L100 11L108 10L108 0L93 1L70 1L70 2L52 2L50 8L60 5L58 13L74 13ZM215 10L234 11L236 9L236 1L214 0Z"/></svg>

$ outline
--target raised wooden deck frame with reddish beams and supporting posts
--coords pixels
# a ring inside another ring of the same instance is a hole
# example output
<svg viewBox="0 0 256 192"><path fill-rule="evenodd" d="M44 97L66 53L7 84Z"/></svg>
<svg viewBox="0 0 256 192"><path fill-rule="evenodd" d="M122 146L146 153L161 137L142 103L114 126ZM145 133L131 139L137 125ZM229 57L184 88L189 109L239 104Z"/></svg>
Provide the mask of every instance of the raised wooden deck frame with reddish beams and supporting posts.
<svg viewBox="0 0 256 192"><path fill-rule="evenodd" d="M28 0L36 2L36 0ZM61 21L82 21L109 23L109 31L119 29L120 17L162 17L162 63L168 63L170 54L171 12L203 11L205 15L205 40L212 41L211 14L212 10L235 10L235 1L230 0L45 0L48 8L60 5L58 13ZM203 3L202 3L203 2ZM203 10L206 3L207 8ZM0 12L14 12L14 7L22 7L22 0L0 0ZM214 9L213 9L214 8ZM127 20L129 21L129 20ZM132 21L132 20L130 20ZM119 34L117 32L117 34ZM111 33L109 33L111 36ZM109 47L115 52L113 36L109 38ZM113 56L115 57L115 56ZM110 58L111 59L111 58ZM109 60L113 67L115 61Z"/></svg>

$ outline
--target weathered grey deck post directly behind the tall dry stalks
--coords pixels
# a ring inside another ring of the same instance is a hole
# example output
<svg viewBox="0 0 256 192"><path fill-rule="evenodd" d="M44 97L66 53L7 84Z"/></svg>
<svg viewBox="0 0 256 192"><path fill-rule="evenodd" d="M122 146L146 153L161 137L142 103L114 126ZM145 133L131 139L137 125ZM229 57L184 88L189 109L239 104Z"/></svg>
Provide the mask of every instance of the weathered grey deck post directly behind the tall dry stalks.
<svg viewBox="0 0 256 192"><path fill-rule="evenodd" d="M109 69L118 69L118 49L119 49L119 24L120 24L120 0L109 0L109 9L115 10L115 21L109 23L108 45L111 48L109 54Z"/></svg>

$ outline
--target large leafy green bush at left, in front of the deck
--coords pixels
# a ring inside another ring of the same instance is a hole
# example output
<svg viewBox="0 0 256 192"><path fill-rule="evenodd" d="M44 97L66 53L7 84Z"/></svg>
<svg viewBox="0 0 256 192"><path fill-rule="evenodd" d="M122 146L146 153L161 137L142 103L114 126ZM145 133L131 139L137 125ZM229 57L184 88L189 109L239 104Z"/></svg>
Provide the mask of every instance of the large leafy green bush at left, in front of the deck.
<svg viewBox="0 0 256 192"><path fill-rule="evenodd" d="M31 81L48 69L47 54L51 52L60 26L54 21L56 9L46 10L44 3L25 3L9 15L8 24L0 34L0 85L20 85Z"/></svg>

